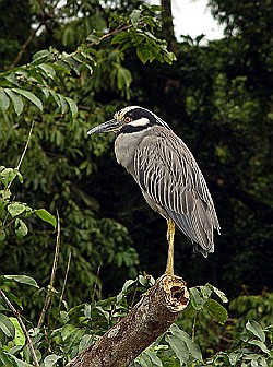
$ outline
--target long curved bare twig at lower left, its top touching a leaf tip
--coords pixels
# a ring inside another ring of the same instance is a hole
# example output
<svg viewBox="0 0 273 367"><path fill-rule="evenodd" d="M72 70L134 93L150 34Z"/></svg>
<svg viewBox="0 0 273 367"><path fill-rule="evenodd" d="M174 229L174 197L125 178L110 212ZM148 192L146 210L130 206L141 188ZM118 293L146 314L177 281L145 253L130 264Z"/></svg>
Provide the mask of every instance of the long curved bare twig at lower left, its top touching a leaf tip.
<svg viewBox="0 0 273 367"><path fill-rule="evenodd" d="M55 257L54 257L54 263L52 263L52 269L51 269L51 275L50 275L50 283L47 288L47 295L46 295L46 300L45 305L43 307L43 310L40 312L39 321L37 324L37 328L40 329L41 324L44 323L46 311L48 309L48 306L51 300L51 294L54 289L54 282L55 282L55 276L56 276L56 270L57 270L57 264L59 260L59 252L60 252L60 216L57 211L57 236L56 236L56 246L55 246Z"/></svg>

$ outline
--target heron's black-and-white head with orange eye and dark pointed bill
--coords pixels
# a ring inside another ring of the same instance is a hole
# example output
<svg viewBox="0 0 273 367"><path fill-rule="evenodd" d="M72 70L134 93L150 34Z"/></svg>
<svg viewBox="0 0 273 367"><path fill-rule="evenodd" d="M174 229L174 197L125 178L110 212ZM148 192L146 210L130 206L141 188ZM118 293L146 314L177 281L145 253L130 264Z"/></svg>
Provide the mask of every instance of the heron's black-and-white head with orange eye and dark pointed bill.
<svg viewBox="0 0 273 367"><path fill-rule="evenodd" d="M91 129L87 134L110 131L116 133L134 132L147 129L155 125L169 129L165 121L149 109L139 106L128 106L117 111L111 120Z"/></svg>

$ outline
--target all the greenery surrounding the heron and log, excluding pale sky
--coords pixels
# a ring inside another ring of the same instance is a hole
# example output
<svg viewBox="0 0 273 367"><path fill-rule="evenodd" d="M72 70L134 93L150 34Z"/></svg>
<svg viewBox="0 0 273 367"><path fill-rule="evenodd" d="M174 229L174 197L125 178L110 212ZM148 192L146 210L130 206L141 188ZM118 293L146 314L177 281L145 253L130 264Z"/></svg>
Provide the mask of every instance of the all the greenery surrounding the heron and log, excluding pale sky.
<svg viewBox="0 0 273 367"><path fill-rule="evenodd" d="M273 9L209 5L221 40L176 40L142 1L0 0L0 365L34 363L9 300L40 366L63 366L164 272L165 221L116 163L115 137L86 134L127 105L188 144L222 226L207 259L176 234L191 304L134 366L272 365Z"/></svg>

